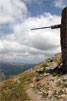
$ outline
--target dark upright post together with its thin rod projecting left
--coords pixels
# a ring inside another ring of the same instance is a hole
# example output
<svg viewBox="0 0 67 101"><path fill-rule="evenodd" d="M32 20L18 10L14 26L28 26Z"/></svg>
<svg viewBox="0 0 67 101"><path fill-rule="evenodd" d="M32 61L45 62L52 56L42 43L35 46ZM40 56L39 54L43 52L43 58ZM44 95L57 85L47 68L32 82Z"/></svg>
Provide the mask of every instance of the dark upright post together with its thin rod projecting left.
<svg viewBox="0 0 67 101"><path fill-rule="evenodd" d="M52 25L49 27L33 28L31 30L45 29L45 28L51 28L51 29L60 28L60 37L61 37L60 43L62 52L61 71L63 73L67 73L67 7L65 7L62 11L61 24Z"/></svg>

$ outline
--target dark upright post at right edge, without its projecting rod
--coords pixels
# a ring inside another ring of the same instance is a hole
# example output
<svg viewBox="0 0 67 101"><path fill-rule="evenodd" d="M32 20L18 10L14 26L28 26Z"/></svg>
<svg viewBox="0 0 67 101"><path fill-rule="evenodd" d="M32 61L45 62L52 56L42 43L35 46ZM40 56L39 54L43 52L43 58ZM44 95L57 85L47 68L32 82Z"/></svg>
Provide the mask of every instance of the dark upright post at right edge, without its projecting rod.
<svg viewBox="0 0 67 101"><path fill-rule="evenodd" d="M61 19L61 51L62 51L62 61L63 65L61 70L67 73L67 7L62 11Z"/></svg>

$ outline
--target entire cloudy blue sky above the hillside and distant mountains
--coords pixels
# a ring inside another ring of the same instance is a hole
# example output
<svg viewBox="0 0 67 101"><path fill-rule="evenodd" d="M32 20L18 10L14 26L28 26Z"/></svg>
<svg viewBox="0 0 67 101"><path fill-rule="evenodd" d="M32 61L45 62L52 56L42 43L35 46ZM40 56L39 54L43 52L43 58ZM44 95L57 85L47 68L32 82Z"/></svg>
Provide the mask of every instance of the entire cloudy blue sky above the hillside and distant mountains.
<svg viewBox="0 0 67 101"><path fill-rule="evenodd" d="M61 52L60 29L67 0L0 0L0 61L39 63Z"/></svg>

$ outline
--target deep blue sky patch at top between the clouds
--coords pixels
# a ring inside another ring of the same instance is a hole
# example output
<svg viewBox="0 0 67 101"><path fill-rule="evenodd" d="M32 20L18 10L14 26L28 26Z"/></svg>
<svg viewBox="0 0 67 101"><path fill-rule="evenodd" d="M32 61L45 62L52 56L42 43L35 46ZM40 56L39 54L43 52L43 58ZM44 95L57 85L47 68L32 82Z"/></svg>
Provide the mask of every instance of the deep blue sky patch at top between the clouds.
<svg viewBox="0 0 67 101"><path fill-rule="evenodd" d="M31 13L31 16L39 16L45 12L61 15L62 11L61 8L56 8L54 6L54 0L41 0L39 4L36 2L28 3L27 7Z"/></svg>

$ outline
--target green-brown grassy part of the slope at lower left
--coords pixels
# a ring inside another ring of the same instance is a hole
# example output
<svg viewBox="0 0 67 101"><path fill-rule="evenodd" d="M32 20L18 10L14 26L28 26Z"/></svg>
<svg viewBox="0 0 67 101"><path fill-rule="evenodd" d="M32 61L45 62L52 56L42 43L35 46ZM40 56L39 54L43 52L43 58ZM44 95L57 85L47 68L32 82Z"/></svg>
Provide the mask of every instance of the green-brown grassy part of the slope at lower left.
<svg viewBox="0 0 67 101"><path fill-rule="evenodd" d="M0 101L29 101L26 89L29 88L28 84L32 82L34 76L36 76L35 73L27 73L19 76L19 79L16 81L12 78L8 79L0 87Z"/></svg>

